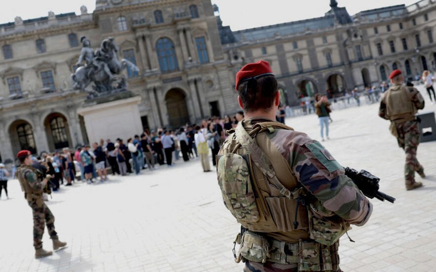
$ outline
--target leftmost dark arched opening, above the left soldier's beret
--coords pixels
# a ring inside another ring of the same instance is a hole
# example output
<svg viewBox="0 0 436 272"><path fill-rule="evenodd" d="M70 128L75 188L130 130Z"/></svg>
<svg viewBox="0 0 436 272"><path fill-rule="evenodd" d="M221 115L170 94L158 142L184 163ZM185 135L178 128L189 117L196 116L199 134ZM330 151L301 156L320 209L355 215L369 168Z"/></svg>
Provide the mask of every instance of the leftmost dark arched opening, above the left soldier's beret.
<svg viewBox="0 0 436 272"><path fill-rule="evenodd" d="M24 120L14 121L9 127L9 135L14 154L23 149L27 149L32 152L32 154L36 154L37 150L33 129L28 122Z"/></svg>

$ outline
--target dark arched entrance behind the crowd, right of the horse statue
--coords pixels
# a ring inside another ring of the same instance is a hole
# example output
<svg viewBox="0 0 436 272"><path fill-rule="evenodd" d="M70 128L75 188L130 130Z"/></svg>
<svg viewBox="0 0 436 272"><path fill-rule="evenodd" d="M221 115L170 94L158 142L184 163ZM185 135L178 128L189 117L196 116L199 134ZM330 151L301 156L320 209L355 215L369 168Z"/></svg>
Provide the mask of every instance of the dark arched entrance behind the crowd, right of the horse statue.
<svg viewBox="0 0 436 272"><path fill-rule="evenodd" d="M168 122L172 127L180 127L189 122L186 95L181 89L171 89L165 95Z"/></svg>

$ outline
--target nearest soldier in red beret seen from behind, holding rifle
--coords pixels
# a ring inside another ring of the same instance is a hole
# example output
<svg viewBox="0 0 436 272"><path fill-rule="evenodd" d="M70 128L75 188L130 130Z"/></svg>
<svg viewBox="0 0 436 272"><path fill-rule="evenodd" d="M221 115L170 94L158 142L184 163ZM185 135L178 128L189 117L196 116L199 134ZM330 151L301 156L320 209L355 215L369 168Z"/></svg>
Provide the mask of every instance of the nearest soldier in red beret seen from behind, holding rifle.
<svg viewBox="0 0 436 272"><path fill-rule="evenodd" d="M280 104L269 63L236 74L239 122L217 156L226 207L241 223L233 248L244 271L341 271L339 238L365 224L372 205L318 142L275 120Z"/></svg>

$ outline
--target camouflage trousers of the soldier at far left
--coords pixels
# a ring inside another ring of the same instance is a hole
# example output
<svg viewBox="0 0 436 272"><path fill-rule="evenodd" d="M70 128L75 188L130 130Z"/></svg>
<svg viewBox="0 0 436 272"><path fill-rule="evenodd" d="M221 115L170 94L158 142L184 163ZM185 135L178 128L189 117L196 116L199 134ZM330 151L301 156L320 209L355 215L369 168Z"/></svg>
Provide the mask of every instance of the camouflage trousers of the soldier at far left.
<svg viewBox="0 0 436 272"><path fill-rule="evenodd" d="M43 202L43 205L37 205L36 199L27 201L32 208L33 213L33 246L35 249L43 247L44 223L47 225L48 234L51 239L58 239L54 230L54 216L50 209Z"/></svg>

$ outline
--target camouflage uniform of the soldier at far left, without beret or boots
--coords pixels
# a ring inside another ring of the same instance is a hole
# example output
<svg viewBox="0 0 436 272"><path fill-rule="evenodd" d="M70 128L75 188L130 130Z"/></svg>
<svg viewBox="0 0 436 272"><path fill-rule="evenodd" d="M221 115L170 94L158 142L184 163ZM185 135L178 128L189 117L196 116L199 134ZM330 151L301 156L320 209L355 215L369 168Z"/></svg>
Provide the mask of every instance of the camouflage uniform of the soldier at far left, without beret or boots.
<svg viewBox="0 0 436 272"><path fill-rule="evenodd" d="M54 230L54 216L44 203L42 196L44 190L42 173L33 167L21 166L17 169L16 176L19 182L25 185L22 188L24 188L25 198L33 213L33 246L35 249L40 249L43 247L44 222L50 238L58 239Z"/></svg>

